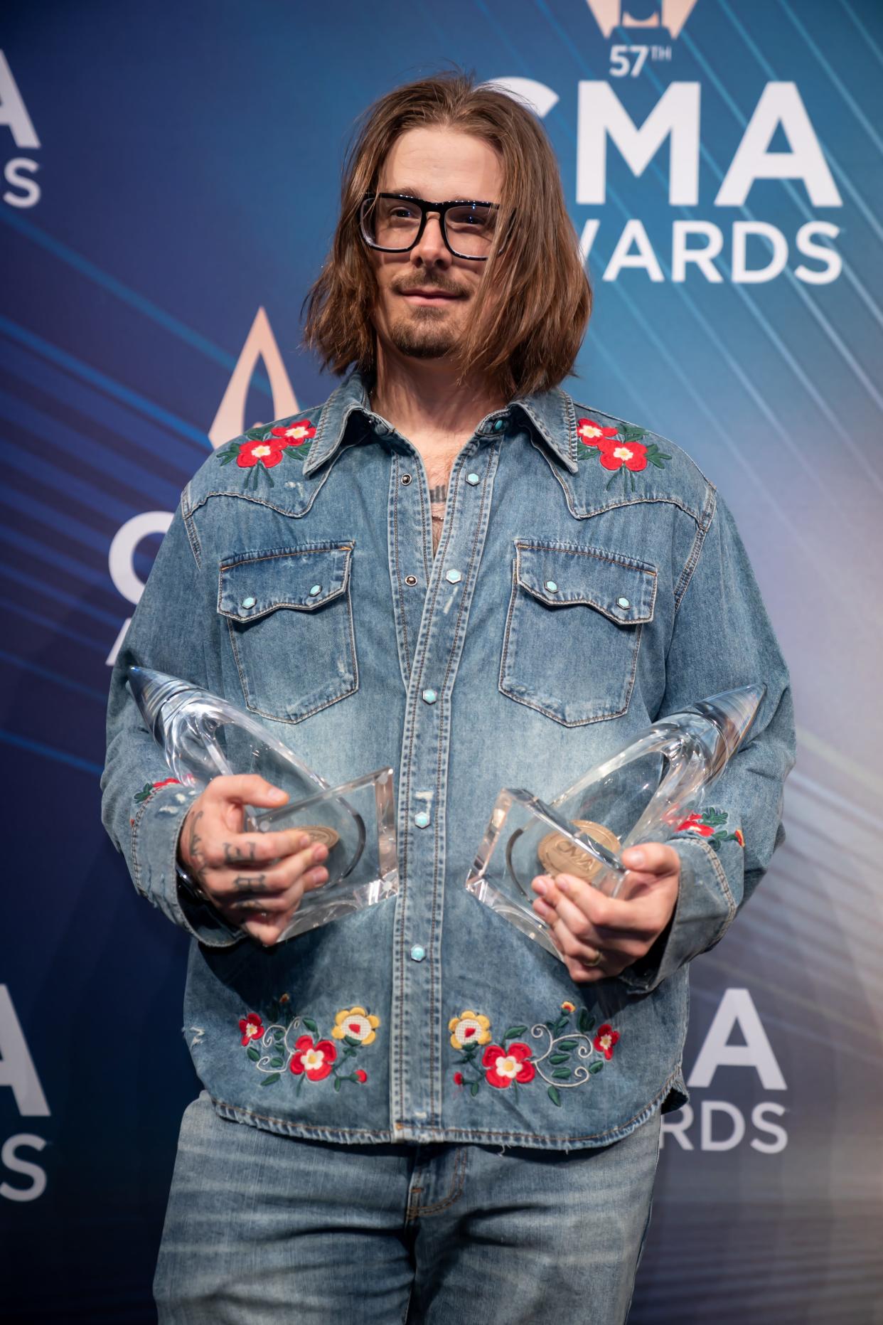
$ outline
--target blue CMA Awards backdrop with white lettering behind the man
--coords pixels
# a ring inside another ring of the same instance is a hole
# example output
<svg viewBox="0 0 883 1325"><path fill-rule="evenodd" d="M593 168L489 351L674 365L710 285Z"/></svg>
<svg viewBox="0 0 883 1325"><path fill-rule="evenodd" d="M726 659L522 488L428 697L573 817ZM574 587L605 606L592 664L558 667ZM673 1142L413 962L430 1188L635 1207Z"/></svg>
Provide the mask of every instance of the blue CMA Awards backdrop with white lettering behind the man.
<svg viewBox="0 0 883 1325"><path fill-rule="evenodd" d="M154 1318L197 1083L187 939L99 822L109 664L210 448L334 384L299 310L355 117L455 64L557 151L573 391L718 484L794 680L788 840L694 963L631 1321L883 1321L878 0L29 0L0 52L5 1317Z"/></svg>

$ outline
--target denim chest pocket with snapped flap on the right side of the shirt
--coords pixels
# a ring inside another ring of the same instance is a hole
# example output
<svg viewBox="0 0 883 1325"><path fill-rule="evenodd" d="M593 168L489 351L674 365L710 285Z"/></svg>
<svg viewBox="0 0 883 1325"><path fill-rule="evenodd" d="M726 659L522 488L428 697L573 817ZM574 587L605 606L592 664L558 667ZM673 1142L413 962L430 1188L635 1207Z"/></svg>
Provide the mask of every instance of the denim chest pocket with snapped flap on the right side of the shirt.
<svg viewBox="0 0 883 1325"><path fill-rule="evenodd" d="M499 688L565 727L629 708L657 568L601 549L515 539Z"/></svg>

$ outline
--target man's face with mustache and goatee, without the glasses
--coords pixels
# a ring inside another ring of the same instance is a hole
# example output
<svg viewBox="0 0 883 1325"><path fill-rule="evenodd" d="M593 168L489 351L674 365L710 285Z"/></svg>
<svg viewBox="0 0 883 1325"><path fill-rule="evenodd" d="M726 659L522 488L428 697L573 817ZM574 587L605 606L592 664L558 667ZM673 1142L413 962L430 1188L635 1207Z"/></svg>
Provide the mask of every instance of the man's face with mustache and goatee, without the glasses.
<svg viewBox="0 0 883 1325"><path fill-rule="evenodd" d="M502 184L500 158L481 138L454 129L409 129L393 143L377 192L434 203L498 203ZM438 359L453 350L471 317L485 262L455 257L442 238L441 217L432 212L410 252L369 253L377 276L379 339L414 359Z"/></svg>

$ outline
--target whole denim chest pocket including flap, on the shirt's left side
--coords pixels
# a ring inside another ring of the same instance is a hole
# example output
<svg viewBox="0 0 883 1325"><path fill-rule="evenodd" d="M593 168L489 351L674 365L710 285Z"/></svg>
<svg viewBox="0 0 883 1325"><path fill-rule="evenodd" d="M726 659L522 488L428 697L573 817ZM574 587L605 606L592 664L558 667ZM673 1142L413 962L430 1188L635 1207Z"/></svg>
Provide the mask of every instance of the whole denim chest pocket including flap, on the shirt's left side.
<svg viewBox="0 0 883 1325"><path fill-rule="evenodd" d="M221 562L217 610L246 706L301 722L359 688L352 543L298 543Z"/></svg>

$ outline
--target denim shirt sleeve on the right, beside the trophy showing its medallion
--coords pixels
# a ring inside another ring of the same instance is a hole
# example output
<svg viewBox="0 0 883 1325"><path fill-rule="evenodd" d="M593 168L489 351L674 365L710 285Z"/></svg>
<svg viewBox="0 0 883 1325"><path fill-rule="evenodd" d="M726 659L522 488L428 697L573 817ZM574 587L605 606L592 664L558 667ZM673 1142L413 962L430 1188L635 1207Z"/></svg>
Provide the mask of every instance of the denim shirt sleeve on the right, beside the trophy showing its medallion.
<svg viewBox="0 0 883 1325"><path fill-rule="evenodd" d="M655 988L727 933L784 841L782 788L796 755L788 668L748 554L719 496L707 531L696 535L686 574L659 716L741 685L763 682L767 693L748 741L711 788L708 803L671 839L680 857L678 901L650 951L620 977L634 994Z"/></svg>

